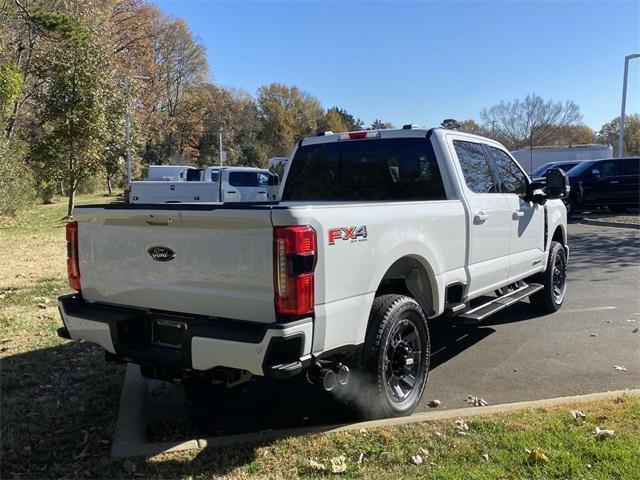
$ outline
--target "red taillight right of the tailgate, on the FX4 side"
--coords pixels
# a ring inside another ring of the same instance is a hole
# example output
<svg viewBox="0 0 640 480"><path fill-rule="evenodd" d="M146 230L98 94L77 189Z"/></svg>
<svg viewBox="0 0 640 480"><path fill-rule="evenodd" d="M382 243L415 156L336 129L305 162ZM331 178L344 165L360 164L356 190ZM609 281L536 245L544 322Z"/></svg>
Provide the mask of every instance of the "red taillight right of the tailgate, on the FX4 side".
<svg viewBox="0 0 640 480"><path fill-rule="evenodd" d="M316 232L308 225L273 229L273 283L276 313L306 315L314 301Z"/></svg>

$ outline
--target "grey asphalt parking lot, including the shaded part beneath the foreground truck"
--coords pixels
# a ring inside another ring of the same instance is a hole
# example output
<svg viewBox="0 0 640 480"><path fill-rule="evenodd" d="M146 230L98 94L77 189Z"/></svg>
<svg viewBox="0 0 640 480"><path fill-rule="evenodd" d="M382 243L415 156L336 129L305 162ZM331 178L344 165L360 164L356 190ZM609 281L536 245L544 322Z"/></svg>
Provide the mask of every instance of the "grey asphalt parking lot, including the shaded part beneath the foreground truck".
<svg viewBox="0 0 640 480"><path fill-rule="evenodd" d="M568 292L559 312L538 316L521 302L475 326L434 322L418 411L433 399L438 409L466 407L468 395L495 405L640 387L640 333L632 333L640 327L640 231L572 223L569 244ZM148 397L154 396L163 398ZM145 410L155 410L150 440L355 420L301 379L257 379L233 390L191 387L179 402L181 408L147 399Z"/></svg>

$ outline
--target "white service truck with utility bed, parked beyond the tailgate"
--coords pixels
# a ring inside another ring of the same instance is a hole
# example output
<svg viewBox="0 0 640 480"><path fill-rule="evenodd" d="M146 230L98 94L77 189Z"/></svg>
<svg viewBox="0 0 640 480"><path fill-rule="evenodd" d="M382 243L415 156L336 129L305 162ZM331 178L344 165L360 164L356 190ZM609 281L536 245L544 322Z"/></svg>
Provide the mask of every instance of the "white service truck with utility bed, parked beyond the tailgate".
<svg viewBox="0 0 640 480"><path fill-rule="evenodd" d="M141 205L268 202L275 199L278 190L278 177L260 168L189 168L181 175L176 181L131 182L129 202Z"/></svg>

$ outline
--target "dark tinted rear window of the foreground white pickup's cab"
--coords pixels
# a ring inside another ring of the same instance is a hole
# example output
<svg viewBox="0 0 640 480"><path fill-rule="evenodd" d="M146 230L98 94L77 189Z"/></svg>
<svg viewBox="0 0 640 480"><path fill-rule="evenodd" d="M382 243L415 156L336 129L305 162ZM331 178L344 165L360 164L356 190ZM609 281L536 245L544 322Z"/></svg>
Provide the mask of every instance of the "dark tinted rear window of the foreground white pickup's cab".
<svg viewBox="0 0 640 480"><path fill-rule="evenodd" d="M444 198L438 164L423 138L303 146L292 160L282 196L285 201Z"/></svg>

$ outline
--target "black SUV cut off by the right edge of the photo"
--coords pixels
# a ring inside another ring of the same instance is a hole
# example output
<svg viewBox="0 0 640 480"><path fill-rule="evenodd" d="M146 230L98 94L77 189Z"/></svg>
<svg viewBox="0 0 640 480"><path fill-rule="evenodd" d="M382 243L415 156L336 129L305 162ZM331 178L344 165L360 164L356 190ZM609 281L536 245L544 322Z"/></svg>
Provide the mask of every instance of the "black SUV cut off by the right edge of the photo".
<svg viewBox="0 0 640 480"><path fill-rule="evenodd" d="M640 206L640 158L584 161L567 172L571 193L567 213L608 207L622 211Z"/></svg>

